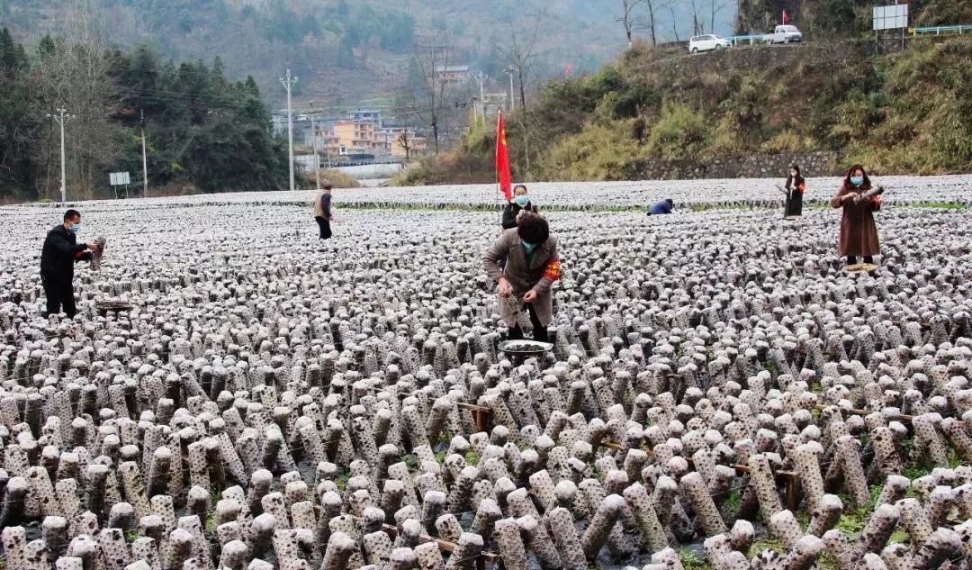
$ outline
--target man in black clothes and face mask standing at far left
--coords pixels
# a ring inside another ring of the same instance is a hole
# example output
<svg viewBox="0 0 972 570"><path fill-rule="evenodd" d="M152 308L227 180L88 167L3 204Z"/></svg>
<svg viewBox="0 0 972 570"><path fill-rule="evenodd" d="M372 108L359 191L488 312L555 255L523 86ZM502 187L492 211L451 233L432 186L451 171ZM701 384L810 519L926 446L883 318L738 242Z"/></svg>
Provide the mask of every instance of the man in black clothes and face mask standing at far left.
<svg viewBox="0 0 972 570"><path fill-rule="evenodd" d="M41 284L48 298L47 314L56 314L64 306L68 318L74 318L78 309L74 304L74 264L79 260L91 259L91 252L97 247L93 241L78 243L81 231L81 213L68 210L64 223L54 226L44 240L41 251Z"/></svg>

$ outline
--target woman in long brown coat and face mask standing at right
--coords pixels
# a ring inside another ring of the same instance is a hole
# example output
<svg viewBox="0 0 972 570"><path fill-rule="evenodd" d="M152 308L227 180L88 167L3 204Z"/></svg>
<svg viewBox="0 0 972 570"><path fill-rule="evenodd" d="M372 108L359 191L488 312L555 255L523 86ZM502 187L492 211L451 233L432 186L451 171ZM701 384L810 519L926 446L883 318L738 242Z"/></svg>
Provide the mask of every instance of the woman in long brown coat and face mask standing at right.
<svg viewBox="0 0 972 570"><path fill-rule="evenodd" d="M857 199L869 190L871 179L863 166L854 164L844 177L841 189L830 199L831 206L844 208L837 254L847 256L849 266L857 263L857 256L863 256L865 264L873 264L874 256L881 253L878 228L874 224L874 212L881 209L881 196Z"/></svg>

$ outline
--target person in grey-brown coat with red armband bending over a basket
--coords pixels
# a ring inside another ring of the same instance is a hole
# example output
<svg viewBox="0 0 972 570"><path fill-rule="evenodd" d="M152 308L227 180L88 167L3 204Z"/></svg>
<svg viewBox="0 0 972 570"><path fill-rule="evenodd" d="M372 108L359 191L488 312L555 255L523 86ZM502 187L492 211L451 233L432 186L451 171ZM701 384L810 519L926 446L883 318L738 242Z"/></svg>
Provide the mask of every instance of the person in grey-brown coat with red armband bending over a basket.
<svg viewBox="0 0 972 570"><path fill-rule="evenodd" d="M500 262L505 266L500 267ZM509 338L523 338L519 316L530 313L534 339L547 341L547 327L553 320L554 281L560 278L557 240L550 235L547 221L524 212L517 227L506 230L483 253L486 274L500 288L500 316L509 328Z"/></svg>

